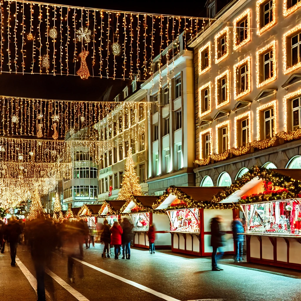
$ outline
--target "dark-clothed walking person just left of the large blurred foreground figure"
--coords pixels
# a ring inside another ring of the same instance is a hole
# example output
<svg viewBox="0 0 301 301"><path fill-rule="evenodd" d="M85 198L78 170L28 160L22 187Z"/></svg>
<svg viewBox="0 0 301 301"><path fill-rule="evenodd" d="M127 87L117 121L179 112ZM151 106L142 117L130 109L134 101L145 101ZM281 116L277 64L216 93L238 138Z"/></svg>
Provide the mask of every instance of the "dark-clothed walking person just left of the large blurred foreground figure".
<svg viewBox="0 0 301 301"><path fill-rule="evenodd" d="M4 239L8 241L11 252L11 266L16 265L16 254L19 235L22 233L21 226L17 219L12 216L8 219L8 224L4 227Z"/></svg>

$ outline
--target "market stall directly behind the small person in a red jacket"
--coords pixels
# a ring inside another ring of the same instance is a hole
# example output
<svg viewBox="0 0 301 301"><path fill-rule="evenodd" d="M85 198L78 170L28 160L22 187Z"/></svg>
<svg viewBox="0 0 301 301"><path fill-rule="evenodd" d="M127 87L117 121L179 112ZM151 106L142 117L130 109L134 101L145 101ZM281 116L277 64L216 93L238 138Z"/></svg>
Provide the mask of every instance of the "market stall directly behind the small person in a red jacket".
<svg viewBox="0 0 301 301"><path fill-rule="evenodd" d="M152 205L157 202L155 196L132 196L120 209L121 213L129 214L134 225L134 247L149 248L147 231L154 224L156 229L155 247L167 249L171 247L169 219L165 212L153 210Z"/></svg>

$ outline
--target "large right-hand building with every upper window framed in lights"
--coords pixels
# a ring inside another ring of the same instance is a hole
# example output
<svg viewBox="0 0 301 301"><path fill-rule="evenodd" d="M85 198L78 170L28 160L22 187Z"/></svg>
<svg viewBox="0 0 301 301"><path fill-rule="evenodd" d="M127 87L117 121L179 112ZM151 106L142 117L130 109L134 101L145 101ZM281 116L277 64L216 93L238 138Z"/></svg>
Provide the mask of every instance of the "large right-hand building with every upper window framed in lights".
<svg viewBox="0 0 301 301"><path fill-rule="evenodd" d="M229 186L253 165L301 167L300 12L300 1L231 1L188 44L196 185Z"/></svg>

